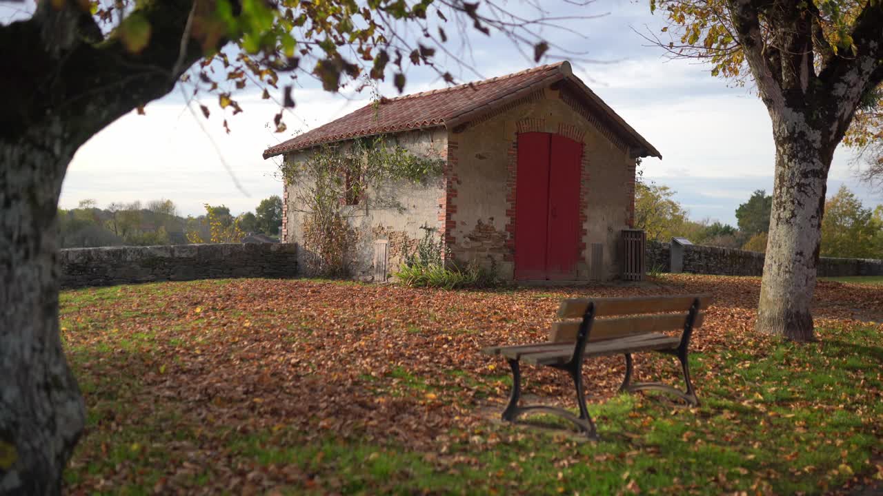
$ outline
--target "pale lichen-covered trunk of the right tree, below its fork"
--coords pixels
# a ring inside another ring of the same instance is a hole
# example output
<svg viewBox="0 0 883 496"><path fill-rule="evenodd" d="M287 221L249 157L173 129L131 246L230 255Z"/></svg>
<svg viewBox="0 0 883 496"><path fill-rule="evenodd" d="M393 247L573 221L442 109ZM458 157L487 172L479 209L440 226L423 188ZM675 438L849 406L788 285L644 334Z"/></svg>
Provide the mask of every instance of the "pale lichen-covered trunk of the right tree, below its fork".
<svg viewBox="0 0 883 496"><path fill-rule="evenodd" d="M816 287L821 222L833 151L802 116L774 116L773 210L760 287L757 330L812 341L810 305ZM778 125L777 125L778 124Z"/></svg>

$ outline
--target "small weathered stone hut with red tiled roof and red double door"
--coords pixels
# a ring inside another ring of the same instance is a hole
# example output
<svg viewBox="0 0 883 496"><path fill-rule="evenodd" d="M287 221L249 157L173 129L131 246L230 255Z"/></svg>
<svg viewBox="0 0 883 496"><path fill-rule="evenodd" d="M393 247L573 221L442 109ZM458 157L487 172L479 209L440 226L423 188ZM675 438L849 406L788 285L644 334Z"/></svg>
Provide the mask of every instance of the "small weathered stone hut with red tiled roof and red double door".
<svg viewBox="0 0 883 496"><path fill-rule="evenodd" d="M302 161L320 145L380 134L444 167L426 184L389 184L401 208L348 207L358 233L352 272L366 280L384 280L427 226L455 260L494 267L503 279L615 279L636 161L661 158L568 62L382 99L264 158ZM292 188L283 192L283 243L303 234L305 208Z"/></svg>

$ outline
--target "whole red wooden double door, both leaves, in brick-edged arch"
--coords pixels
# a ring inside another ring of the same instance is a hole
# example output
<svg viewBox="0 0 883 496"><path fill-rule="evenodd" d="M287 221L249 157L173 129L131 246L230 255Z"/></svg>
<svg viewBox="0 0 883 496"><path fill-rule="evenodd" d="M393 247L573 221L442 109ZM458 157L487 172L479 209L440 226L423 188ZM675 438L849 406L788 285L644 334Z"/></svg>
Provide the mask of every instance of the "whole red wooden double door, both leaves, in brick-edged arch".
<svg viewBox="0 0 883 496"><path fill-rule="evenodd" d="M518 135L516 279L576 279L582 154L582 143L562 136Z"/></svg>

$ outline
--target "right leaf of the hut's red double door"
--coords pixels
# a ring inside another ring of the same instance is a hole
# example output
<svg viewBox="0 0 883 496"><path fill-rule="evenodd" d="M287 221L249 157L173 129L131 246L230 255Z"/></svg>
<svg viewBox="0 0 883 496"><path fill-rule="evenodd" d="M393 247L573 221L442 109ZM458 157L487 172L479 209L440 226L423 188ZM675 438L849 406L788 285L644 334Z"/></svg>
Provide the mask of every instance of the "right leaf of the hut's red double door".
<svg viewBox="0 0 883 496"><path fill-rule="evenodd" d="M579 260L579 169L583 144L553 134L549 156L546 273L551 280L573 280L577 278Z"/></svg>

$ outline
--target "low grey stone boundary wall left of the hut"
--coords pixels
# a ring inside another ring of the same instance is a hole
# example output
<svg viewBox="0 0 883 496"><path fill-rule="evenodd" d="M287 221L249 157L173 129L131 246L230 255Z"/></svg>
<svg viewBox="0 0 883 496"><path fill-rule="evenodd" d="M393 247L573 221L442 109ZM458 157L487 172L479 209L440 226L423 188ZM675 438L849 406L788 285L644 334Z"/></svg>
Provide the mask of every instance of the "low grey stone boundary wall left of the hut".
<svg viewBox="0 0 883 496"><path fill-rule="evenodd" d="M61 287L227 277L293 277L297 245L176 244L68 248L58 253Z"/></svg>

